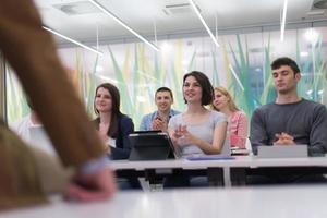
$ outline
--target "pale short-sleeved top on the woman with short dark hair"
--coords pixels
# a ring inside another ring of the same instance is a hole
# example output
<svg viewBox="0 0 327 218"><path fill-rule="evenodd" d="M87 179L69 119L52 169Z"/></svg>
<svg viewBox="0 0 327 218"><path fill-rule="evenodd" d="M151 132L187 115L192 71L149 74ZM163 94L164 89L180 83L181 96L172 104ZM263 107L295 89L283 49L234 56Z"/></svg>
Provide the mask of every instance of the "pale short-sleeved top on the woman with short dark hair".
<svg viewBox="0 0 327 218"><path fill-rule="evenodd" d="M187 131L191 134L195 135L196 137L203 141L206 141L209 144L213 144L216 125L221 122L227 122L227 118L221 112L211 111L211 110L209 112L210 113L208 120L196 124L184 123L183 113L180 113L170 119L168 126L170 129L175 129L179 125L186 125ZM222 150L227 150L225 149L225 147L226 146L223 146ZM182 152L182 156L204 155L204 152L194 144L183 146L181 152ZM222 154L225 153L222 152Z"/></svg>

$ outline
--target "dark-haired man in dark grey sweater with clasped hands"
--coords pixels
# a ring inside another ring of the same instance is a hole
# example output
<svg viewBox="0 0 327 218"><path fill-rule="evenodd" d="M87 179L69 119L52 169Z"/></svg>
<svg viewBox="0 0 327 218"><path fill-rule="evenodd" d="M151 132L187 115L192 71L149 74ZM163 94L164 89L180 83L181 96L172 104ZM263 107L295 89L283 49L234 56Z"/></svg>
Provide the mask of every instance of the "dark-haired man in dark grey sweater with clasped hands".
<svg viewBox="0 0 327 218"><path fill-rule="evenodd" d="M306 144L308 155L320 156L327 152L326 107L298 95L300 69L290 58L279 58L271 63L277 92L275 102L257 108L251 121L251 143L254 154L257 146L294 146ZM265 170L266 178L279 182L296 182L307 174L281 174L280 170ZM324 181L324 178L320 177ZM311 181L310 179L307 180Z"/></svg>

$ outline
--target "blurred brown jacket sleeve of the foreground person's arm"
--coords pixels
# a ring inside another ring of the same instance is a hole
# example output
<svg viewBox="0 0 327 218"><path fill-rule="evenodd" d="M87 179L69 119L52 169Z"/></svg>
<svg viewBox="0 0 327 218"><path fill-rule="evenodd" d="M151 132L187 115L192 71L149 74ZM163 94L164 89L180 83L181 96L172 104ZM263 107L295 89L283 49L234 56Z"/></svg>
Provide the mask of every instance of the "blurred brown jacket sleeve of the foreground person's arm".
<svg viewBox="0 0 327 218"><path fill-rule="evenodd" d="M0 48L64 165L80 166L102 155L101 142L41 25L33 1L1 1Z"/></svg>

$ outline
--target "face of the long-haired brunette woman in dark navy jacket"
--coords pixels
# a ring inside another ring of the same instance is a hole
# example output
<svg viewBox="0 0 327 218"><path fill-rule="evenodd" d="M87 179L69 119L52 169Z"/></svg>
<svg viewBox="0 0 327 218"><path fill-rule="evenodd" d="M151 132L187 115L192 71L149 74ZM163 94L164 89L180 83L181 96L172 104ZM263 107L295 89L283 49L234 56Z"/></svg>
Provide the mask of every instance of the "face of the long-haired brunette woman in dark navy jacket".
<svg viewBox="0 0 327 218"><path fill-rule="evenodd" d="M99 87L95 96L95 107L99 112L111 112L112 97L108 89Z"/></svg>

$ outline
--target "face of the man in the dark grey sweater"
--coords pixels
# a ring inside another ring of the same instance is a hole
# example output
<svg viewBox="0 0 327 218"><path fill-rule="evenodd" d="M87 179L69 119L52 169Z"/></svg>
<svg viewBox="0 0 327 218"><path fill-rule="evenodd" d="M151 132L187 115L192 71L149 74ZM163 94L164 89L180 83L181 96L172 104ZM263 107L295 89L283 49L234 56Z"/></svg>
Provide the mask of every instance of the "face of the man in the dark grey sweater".
<svg viewBox="0 0 327 218"><path fill-rule="evenodd" d="M279 69L272 70L272 78L277 93L288 94L296 92L296 84L301 74L294 73L289 65L281 65Z"/></svg>

